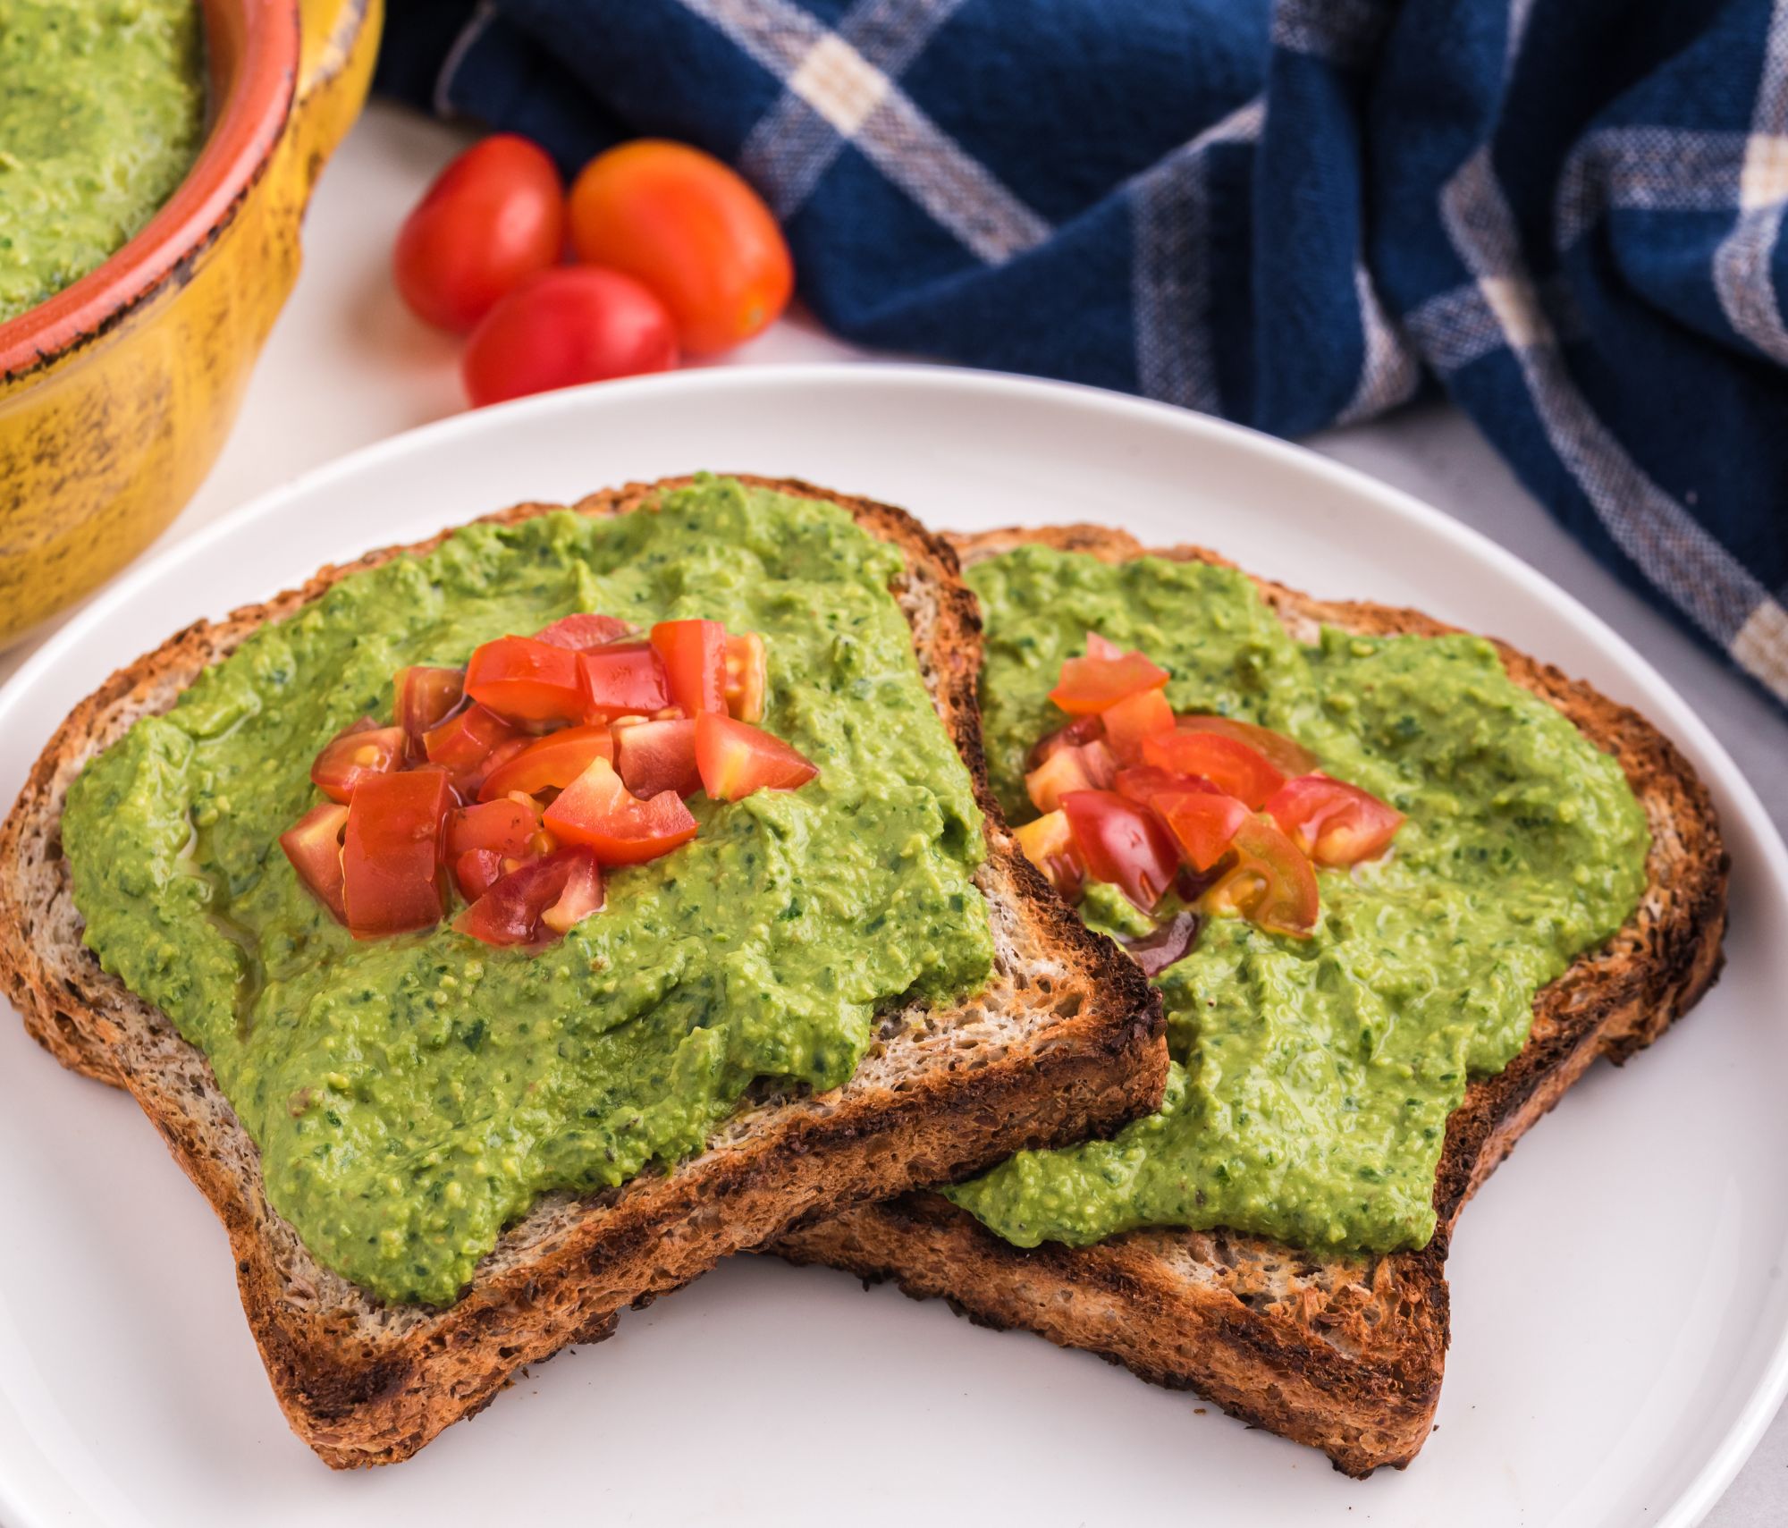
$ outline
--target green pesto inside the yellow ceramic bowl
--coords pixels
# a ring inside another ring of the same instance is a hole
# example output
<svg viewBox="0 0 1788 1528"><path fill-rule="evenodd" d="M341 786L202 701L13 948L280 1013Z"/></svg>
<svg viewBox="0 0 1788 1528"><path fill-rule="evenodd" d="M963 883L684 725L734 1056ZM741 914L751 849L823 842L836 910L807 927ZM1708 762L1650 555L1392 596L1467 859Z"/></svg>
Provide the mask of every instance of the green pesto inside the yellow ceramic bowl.
<svg viewBox="0 0 1788 1528"><path fill-rule="evenodd" d="M114 254L206 127L195 0L0 0L0 322Z"/></svg>

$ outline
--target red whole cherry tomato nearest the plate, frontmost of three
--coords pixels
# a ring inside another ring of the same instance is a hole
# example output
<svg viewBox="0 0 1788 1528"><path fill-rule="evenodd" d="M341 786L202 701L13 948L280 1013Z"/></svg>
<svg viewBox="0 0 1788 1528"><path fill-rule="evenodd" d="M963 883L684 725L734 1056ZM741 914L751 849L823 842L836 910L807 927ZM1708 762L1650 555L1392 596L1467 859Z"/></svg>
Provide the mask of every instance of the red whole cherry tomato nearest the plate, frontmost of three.
<svg viewBox="0 0 1788 1528"><path fill-rule="evenodd" d="M676 326L653 293L594 265L540 270L492 308L460 372L479 408L531 392L667 372Z"/></svg>

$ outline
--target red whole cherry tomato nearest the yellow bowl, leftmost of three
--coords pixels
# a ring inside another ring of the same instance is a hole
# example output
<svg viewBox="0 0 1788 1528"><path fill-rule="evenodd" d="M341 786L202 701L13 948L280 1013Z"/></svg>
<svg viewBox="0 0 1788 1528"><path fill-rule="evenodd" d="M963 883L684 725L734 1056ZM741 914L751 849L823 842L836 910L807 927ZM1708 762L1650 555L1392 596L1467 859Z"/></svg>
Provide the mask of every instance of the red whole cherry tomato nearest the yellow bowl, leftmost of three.
<svg viewBox="0 0 1788 1528"><path fill-rule="evenodd" d="M392 272L411 313L465 333L563 247L558 170L544 149L499 132L442 170L404 218Z"/></svg>

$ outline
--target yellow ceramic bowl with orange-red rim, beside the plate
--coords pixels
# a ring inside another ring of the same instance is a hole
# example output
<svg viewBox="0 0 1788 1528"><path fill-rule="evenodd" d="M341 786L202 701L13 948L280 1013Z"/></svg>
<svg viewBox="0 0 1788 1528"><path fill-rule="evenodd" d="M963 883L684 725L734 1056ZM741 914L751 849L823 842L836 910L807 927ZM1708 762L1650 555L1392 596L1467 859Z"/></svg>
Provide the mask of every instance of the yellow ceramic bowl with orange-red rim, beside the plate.
<svg viewBox="0 0 1788 1528"><path fill-rule="evenodd" d="M381 13L204 0L211 129L186 181L98 270L0 324L0 646L111 578L211 469Z"/></svg>

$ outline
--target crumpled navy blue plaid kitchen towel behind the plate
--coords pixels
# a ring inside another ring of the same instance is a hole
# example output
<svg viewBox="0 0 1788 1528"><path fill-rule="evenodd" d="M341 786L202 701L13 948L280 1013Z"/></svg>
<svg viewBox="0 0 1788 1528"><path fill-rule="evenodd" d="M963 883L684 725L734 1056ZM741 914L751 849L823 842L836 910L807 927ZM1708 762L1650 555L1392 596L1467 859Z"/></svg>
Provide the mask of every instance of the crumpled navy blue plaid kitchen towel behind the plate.
<svg viewBox="0 0 1788 1528"><path fill-rule="evenodd" d="M1788 0L393 0L381 81L721 154L865 345L1278 435L1439 386L1788 701Z"/></svg>

